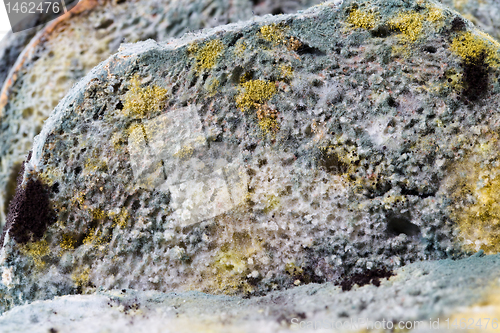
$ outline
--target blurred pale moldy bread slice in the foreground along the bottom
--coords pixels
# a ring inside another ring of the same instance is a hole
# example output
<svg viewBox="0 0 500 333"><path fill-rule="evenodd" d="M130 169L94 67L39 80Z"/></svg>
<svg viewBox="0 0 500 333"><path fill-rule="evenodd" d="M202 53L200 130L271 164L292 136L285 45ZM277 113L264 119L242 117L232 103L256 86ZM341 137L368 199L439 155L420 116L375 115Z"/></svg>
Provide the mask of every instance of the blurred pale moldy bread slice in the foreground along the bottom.
<svg viewBox="0 0 500 333"><path fill-rule="evenodd" d="M193 291L98 291L18 306L0 317L0 327L3 333L366 332L390 327L390 321L412 332L463 332L460 321L473 320L479 326L469 332L495 332L499 264L498 255L425 261L398 269L378 288L343 292L330 283L309 284L250 299Z"/></svg>

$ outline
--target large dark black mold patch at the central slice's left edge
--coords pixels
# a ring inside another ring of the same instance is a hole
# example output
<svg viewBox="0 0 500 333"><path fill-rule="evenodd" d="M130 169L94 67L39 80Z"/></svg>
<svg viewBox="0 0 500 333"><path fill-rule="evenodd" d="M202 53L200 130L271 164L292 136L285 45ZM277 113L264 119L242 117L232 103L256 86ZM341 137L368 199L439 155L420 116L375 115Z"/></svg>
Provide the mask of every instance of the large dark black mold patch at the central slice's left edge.
<svg viewBox="0 0 500 333"><path fill-rule="evenodd" d="M3 244L7 231L17 243L40 240L54 219L50 208L48 186L38 179L30 179L23 186L23 175L24 163L17 179L16 194L9 205L7 224L0 244Z"/></svg>

